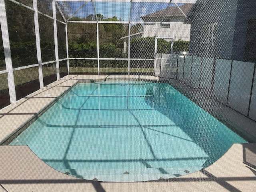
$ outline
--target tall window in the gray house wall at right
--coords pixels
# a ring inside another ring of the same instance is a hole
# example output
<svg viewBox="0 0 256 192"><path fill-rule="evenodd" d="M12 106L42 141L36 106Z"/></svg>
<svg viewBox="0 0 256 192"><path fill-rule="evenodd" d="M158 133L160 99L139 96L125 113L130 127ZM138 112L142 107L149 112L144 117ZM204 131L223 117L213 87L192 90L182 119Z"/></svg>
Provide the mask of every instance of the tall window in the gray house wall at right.
<svg viewBox="0 0 256 192"><path fill-rule="evenodd" d="M217 24L202 26L200 52L202 56L212 56L216 44Z"/></svg>

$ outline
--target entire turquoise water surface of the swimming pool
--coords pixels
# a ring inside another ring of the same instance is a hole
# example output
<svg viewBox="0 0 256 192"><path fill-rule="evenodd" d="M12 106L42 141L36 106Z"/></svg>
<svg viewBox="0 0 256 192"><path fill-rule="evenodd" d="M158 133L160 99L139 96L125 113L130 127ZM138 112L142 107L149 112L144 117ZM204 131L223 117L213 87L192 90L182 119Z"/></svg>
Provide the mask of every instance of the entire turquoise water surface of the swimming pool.
<svg viewBox="0 0 256 192"><path fill-rule="evenodd" d="M205 168L246 143L169 84L79 83L10 145L88 180L144 181Z"/></svg>

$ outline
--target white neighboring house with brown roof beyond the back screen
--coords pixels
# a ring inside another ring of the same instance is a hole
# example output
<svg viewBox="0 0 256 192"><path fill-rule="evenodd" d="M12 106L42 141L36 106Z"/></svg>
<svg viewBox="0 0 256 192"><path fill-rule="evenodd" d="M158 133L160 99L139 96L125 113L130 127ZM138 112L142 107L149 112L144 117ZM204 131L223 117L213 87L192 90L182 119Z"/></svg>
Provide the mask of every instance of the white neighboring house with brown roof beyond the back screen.
<svg viewBox="0 0 256 192"><path fill-rule="evenodd" d="M183 4L179 7L171 6L142 16L144 22L162 22L161 24L144 23L142 37L156 36L189 41L190 25L185 25L184 20L192 6L193 4Z"/></svg>

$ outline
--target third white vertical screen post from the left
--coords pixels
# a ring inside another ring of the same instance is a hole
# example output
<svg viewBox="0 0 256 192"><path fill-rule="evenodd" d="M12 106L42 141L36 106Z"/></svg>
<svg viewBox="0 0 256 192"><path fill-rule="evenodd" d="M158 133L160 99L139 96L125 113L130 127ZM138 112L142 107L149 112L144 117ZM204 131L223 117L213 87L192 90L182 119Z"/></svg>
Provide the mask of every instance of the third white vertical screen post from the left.
<svg viewBox="0 0 256 192"><path fill-rule="evenodd" d="M56 19L55 0L52 0L52 16L54 18L53 30L54 30L54 47L55 47L55 59L56 59L56 73L57 73L57 80L60 80L60 64L59 64L58 32L57 32L57 19Z"/></svg>

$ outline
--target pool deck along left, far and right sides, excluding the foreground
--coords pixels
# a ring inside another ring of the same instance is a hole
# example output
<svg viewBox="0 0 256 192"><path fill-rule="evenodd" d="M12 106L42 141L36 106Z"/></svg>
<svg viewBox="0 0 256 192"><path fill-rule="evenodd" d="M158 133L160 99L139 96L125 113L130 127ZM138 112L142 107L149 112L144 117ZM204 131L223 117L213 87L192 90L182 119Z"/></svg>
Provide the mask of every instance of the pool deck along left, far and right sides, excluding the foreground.
<svg viewBox="0 0 256 192"><path fill-rule="evenodd" d="M182 82L173 79L161 79L155 76L128 76L128 75L69 75L61 78L60 81L53 82L48 86L40 89L21 100L18 100L16 104L12 104L4 109L0 110L0 123L5 125L4 129L1 130L0 144L10 143L22 130L30 126L36 118L43 114L48 108L50 108L55 102L58 101L72 86L78 82L96 82L102 80L151 80L153 82L167 82L176 88L179 92L186 95L190 100L198 104L201 108L206 110L212 116L226 124L231 130L242 135L248 142L256 143L256 122L246 118L242 114L232 110L228 106L224 106L220 102L216 102L210 96L207 96L201 90L189 88ZM40 98L41 105L32 102ZM37 106L31 113L31 108L25 106ZM21 110L20 110L21 109ZM17 110L19 112L17 112ZM29 111L26 111L29 110ZM22 111L22 112L21 112ZM26 111L26 112L24 112ZM10 117L17 119L18 122L11 121ZM10 123L12 122L12 123Z"/></svg>

